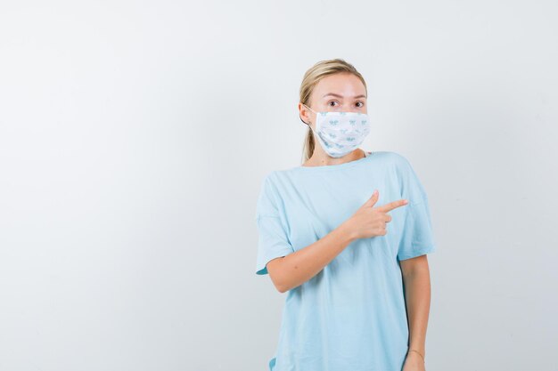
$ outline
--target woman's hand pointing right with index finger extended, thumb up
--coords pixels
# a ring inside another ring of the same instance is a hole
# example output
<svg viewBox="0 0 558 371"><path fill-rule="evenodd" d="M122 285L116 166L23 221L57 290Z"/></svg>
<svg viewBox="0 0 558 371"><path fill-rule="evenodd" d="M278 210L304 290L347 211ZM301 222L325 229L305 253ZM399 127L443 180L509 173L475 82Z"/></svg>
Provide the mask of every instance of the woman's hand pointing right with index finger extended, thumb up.
<svg viewBox="0 0 558 371"><path fill-rule="evenodd" d="M391 216L387 213L396 207L405 206L408 203L406 199L400 199L383 206L373 207L376 201L378 201L378 195L378 190L374 190L372 197L368 198L365 204L360 206L357 212L345 222L353 238L371 238L386 235L386 223L391 222Z"/></svg>

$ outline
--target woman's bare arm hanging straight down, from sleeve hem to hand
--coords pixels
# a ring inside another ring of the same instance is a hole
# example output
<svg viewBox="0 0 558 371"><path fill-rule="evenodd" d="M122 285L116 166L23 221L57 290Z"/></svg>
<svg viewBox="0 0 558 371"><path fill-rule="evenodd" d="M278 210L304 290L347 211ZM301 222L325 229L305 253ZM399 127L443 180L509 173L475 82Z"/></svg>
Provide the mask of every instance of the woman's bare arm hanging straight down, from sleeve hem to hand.
<svg viewBox="0 0 558 371"><path fill-rule="evenodd" d="M423 254L399 263L405 285L406 312L409 323L409 351L403 371L423 371L424 343L431 306L431 278L428 259L426 254Z"/></svg>

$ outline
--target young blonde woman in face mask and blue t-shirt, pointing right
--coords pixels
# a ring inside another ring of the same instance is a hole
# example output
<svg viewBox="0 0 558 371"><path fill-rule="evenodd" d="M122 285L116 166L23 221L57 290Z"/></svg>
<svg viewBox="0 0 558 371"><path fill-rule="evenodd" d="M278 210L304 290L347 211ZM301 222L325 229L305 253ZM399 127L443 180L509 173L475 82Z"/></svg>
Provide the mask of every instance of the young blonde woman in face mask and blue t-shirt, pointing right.
<svg viewBox="0 0 558 371"><path fill-rule="evenodd" d="M270 371L424 371L428 199L406 157L358 148L366 96L345 60L308 69L305 161L262 182L256 273L287 293Z"/></svg>

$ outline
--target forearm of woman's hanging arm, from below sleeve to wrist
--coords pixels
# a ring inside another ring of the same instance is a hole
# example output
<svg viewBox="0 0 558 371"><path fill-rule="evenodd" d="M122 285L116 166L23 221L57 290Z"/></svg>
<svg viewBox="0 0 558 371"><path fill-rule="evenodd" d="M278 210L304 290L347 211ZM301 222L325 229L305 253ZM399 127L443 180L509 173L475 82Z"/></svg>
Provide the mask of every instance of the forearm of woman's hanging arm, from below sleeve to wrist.
<svg viewBox="0 0 558 371"><path fill-rule="evenodd" d="M431 282L428 265L421 264L403 275L406 311L409 322L409 350L421 352L425 357L426 328L431 304Z"/></svg>

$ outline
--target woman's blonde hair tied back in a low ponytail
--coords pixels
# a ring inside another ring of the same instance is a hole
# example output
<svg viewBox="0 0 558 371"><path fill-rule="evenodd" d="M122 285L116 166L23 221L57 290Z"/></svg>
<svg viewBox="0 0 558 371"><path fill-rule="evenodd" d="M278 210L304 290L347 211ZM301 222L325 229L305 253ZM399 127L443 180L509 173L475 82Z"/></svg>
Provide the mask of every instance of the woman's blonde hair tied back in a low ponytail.
<svg viewBox="0 0 558 371"><path fill-rule="evenodd" d="M366 95L368 95L365 78L362 77L362 75L357 71L357 69L355 69L352 64L338 58L334 60L320 60L310 69L308 69L308 71L306 71L304 77L302 77L302 83L300 84L300 102L306 104L309 107L310 95L314 91L314 87L316 86L316 84L324 77L342 72L349 72L358 77L360 81L362 81L362 84L365 85L365 92ZM300 120L302 121L302 117L300 117ZM302 122L304 124L307 124L304 121ZM314 141L314 134L312 133L310 125L308 125L308 133L306 135L304 146L302 148L302 162L305 162L306 160L308 160L308 158L312 157L315 147L316 142Z"/></svg>

